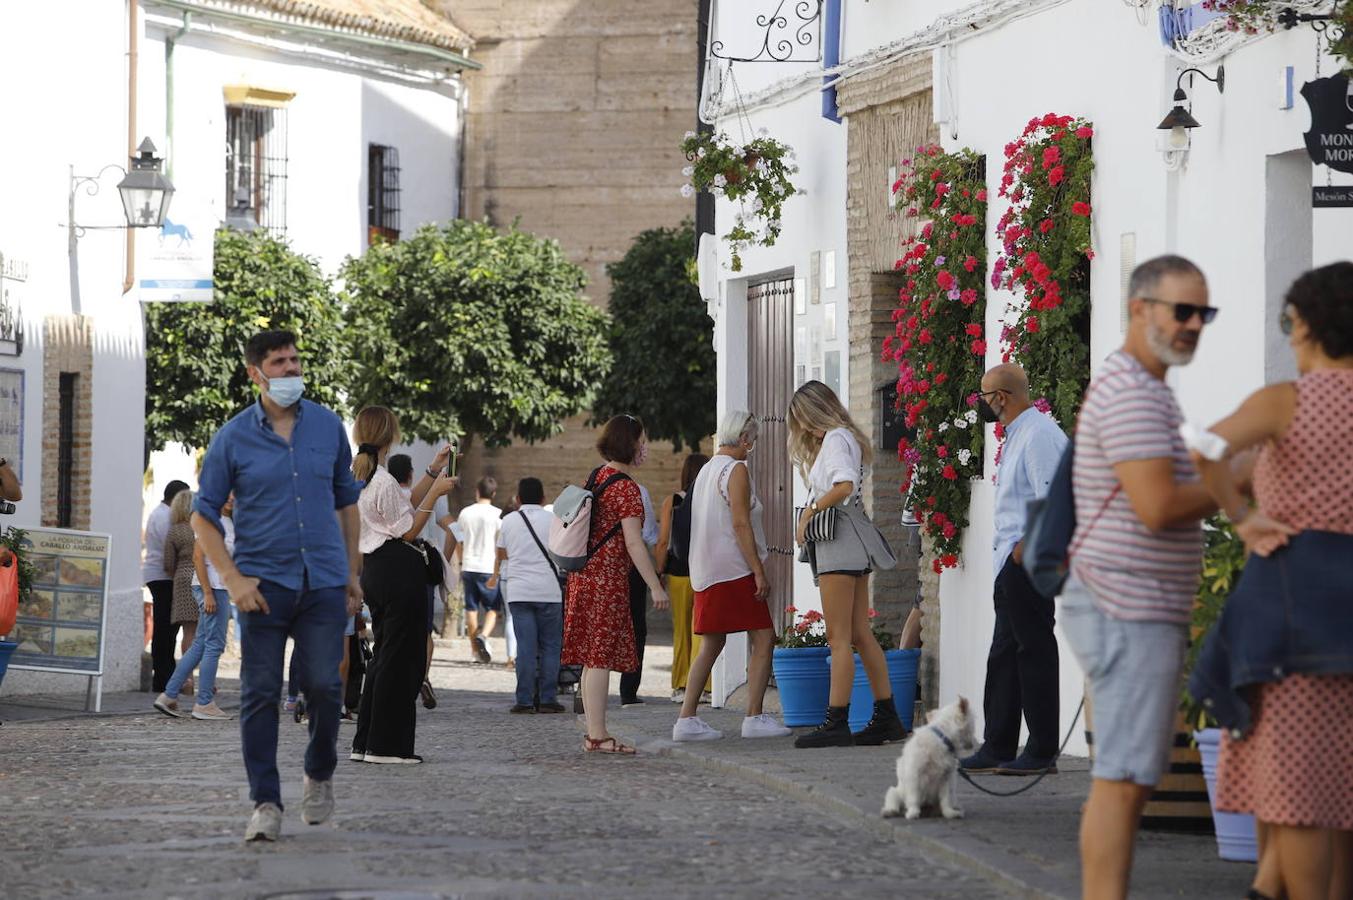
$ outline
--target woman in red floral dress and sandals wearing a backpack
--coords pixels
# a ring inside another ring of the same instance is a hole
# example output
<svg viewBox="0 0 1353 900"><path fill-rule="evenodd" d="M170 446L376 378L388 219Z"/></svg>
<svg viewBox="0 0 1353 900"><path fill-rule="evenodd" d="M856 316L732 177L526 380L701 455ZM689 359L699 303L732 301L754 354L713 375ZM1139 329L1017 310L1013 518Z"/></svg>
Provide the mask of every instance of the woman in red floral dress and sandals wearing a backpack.
<svg viewBox="0 0 1353 900"><path fill-rule="evenodd" d="M648 457L644 425L616 415L601 432L597 452L603 466L587 479L594 501L593 541L601 541L582 571L568 578L564 598L566 666L582 666L580 682L587 736L583 750L633 755L606 731L606 694L612 671L635 671L635 625L629 614L629 570L633 566L653 593L653 608L667 608L667 594L644 544L644 501L629 474Z"/></svg>

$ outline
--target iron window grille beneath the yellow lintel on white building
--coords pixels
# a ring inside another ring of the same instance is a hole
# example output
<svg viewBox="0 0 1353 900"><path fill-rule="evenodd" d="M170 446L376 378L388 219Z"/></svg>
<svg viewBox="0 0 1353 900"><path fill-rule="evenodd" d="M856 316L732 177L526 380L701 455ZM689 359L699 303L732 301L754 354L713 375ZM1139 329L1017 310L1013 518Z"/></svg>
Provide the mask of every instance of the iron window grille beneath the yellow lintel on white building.
<svg viewBox="0 0 1353 900"><path fill-rule="evenodd" d="M226 204L273 234L287 233L287 111L226 107Z"/></svg>

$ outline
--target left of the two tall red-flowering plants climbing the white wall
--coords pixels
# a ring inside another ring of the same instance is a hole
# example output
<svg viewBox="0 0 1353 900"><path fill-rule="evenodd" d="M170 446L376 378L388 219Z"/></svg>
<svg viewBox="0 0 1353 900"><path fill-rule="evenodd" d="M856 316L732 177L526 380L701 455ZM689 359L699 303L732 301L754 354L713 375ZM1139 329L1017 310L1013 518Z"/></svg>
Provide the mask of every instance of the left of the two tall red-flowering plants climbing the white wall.
<svg viewBox="0 0 1353 900"><path fill-rule="evenodd" d="M902 165L897 210L924 223L897 261L907 280L882 359L897 361L897 401L915 429L897 445L901 491L911 491L939 572L958 564L969 486L982 474L976 391L986 356L986 165L971 150L936 145Z"/></svg>

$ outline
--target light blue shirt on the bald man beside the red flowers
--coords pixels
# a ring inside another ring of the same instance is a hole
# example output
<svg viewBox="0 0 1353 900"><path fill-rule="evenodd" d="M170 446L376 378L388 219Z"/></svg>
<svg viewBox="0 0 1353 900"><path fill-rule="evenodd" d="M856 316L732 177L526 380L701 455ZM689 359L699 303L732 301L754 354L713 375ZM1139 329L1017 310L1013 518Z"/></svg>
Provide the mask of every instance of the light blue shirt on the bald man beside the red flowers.
<svg viewBox="0 0 1353 900"><path fill-rule="evenodd" d="M1066 449L1066 434L1051 418L1030 406L1005 426L1005 448L996 470L996 537L993 574L1024 537L1028 502L1047 495L1053 474Z"/></svg>

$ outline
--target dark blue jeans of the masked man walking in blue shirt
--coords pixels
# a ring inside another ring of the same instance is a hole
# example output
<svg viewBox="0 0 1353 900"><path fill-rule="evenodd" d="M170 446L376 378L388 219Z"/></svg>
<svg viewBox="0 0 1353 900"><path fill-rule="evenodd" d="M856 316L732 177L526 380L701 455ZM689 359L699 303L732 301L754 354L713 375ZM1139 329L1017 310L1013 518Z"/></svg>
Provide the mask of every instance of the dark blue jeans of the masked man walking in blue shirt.
<svg viewBox="0 0 1353 900"><path fill-rule="evenodd" d="M300 690L310 713L306 774L317 781L333 777L338 765L338 704L342 685L342 629L348 621L348 594L342 587L291 590L264 581L258 591L268 612L241 613L244 627L239 665L239 736L249 798L254 805L281 805L277 774L277 704L281 700L281 660L287 637L296 642L302 669Z"/></svg>

